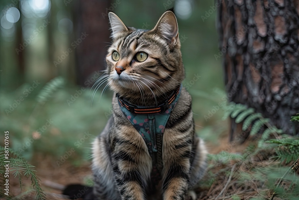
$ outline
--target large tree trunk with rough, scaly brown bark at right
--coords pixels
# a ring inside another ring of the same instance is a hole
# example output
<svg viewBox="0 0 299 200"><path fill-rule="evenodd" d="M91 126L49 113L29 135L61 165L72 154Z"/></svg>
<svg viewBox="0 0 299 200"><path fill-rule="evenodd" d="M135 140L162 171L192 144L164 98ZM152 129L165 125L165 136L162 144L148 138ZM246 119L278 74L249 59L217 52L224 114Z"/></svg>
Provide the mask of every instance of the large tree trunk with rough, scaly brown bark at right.
<svg viewBox="0 0 299 200"><path fill-rule="evenodd" d="M230 101L252 107L286 134L298 134L298 0L216 0ZM222 55L222 52L223 55ZM231 119L231 139L242 124Z"/></svg>

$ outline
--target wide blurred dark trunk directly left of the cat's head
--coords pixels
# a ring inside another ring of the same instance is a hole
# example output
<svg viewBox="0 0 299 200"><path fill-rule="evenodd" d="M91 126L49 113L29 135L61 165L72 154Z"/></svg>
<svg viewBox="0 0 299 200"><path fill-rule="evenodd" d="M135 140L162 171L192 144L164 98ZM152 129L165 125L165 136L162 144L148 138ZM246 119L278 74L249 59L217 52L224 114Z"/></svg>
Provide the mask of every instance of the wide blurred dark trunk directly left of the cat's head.
<svg viewBox="0 0 299 200"><path fill-rule="evenodd" d="M92 86L91 82L94 82L94 78L99 77L97 72L104 70L107 52L107 48L104 47L109 45L106 42L110 42L110 30L106 14L109 7L111 7L109 0L79 1L75 40L79 39L82 34L86 34L86 38L76 49L77 83L79 85Z"/></svg>

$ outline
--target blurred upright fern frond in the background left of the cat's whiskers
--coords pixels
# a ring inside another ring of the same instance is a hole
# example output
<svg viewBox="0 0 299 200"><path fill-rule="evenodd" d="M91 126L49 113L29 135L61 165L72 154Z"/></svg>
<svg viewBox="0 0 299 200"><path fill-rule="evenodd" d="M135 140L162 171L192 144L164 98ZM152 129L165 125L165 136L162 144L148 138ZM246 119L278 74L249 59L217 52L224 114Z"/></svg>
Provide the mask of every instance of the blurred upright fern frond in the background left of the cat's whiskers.
<svg viewBox="0 0 299 200"><path fill-rule="evenodd" d="M39 103L45 103L49 97L58 89L64 85L64 79L61 76L55 77L42 88L37 95L36 100Z"/></svg>

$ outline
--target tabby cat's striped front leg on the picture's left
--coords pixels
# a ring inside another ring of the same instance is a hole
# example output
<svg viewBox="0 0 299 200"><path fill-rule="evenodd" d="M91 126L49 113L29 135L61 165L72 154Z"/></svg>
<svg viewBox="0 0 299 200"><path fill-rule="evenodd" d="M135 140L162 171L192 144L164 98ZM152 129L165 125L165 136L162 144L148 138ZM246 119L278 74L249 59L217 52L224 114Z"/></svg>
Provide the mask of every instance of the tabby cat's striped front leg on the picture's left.
<svg viewBox="0 0 299 200"><path fill-rule="evenodd" d="M132 131L133 134L121 134L115 139L112 154L115 183L122 200L145 200L151 158L139 133Z"/></svg>

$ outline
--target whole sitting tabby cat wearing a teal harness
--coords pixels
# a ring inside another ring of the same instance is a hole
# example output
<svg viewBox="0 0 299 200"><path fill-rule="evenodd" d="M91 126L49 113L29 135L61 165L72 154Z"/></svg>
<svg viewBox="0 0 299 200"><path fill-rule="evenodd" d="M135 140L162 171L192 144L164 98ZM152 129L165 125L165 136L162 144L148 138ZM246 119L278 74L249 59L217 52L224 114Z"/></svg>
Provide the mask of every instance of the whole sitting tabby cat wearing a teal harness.
<svg viewBox="0 0 299 200"><path fill-rule="evenodd" d="M115 92L113 115L93 143L93 192L83 198L195 199L190 191L205 172L207 150L181 84L176 16L166 11L151 30L127 27L113 12L109 21L112 45L99 82Z"/></svg>

